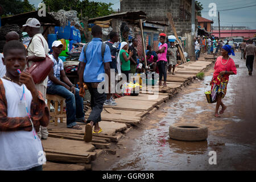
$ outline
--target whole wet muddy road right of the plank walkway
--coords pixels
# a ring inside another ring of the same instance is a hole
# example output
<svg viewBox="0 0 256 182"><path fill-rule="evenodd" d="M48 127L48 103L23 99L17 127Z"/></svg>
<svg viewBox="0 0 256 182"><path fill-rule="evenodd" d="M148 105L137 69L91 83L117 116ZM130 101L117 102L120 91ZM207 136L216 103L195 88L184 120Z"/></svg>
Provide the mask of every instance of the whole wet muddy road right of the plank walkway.
<svg viewBox="0 0 256 182"><path fill-rule="evenodd" d="M249 76L240 52L232 56L237 75L230 76L223 100L228 106L214 117L216 104L208 104L204 90L213 66L203 81L182 88L174 98L149 115L115 146L116 155L103 154L93 170L255 170L256 169L256 64ZM199 123L208 127L208 139L183 142L169 138L172 123ZM209 164L210 151L217 164Z"/></svg>

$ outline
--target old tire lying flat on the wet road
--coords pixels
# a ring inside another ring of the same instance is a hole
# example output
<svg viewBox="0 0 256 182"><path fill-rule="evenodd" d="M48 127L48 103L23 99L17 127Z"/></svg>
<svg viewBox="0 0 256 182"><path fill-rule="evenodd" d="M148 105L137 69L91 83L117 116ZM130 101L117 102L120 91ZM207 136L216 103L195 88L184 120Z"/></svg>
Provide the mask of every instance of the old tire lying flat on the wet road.
<svg viewBox="0 0 256 182"><path fill-rule="evenodd" d="M171 139L183 141L200 141L208 137L208 128L191 123L175 123L169 127Z"/></svg>

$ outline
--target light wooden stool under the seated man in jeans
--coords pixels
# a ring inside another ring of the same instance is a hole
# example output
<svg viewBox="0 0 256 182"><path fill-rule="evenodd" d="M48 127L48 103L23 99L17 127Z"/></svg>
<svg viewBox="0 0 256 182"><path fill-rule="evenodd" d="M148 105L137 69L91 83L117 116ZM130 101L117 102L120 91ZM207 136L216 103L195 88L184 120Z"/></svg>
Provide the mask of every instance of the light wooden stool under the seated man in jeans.
<svg viewBox="0 0 256 182"><path fill-rule="evenodd" d="M63 123L63 118L66 117L66 112L63 111L63 104L65 101L65 98L57 95L46 94L46 99L47 99L47 105L49 109L50 109L51 101L54 102L55 111L50 113L50 116L54 118L54 125L55 126L58 125L58 118L60 118L60 122ZM60 111L58 111L59 102L60 102Z"/></svg>

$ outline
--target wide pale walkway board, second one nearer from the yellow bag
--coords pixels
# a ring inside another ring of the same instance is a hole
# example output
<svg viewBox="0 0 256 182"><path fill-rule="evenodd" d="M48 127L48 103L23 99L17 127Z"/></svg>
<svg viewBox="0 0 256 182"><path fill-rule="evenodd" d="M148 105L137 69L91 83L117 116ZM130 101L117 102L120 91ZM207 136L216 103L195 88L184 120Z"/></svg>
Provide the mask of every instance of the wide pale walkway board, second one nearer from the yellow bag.
<svg viewBox="0 0 256 182"><path fill-rule="evenodd" d="M152 102L149 102L149 101L134 102L134 100L127 100L127 99L124 99L123 97L118 98L117 100L115 100L115 102L117 103L116 106L104 105L104 107L112 107L114 109L121 109L121 110L150 111L155 105L157 105L157 103L152 104Z"/></svg>

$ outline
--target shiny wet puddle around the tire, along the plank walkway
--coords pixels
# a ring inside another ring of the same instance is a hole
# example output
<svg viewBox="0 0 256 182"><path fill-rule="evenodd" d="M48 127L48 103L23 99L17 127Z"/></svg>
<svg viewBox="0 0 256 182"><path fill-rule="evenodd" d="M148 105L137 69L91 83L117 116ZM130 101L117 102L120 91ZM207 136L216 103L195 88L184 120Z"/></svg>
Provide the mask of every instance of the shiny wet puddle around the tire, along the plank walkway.
<svg viewBox="0 0 256 182"><path fill-rule="evenodd" d="M205 84L209 84L212 75L206 76L201 82L200 88L196 88L195 92L184 94L175 101L170 102L167 110L167 115L156 124L153 129L144 130L142 137L135 139L133 150L129 156L119 160L110 170L179 170L189 169L187 165L200 166L200 162L204 165L208 164L209 151L212 147L225 146L225 143L218 143L207 140L200 142L184 142L169 138L169 126L180 118L181 114L189 111L191 114L197 115L203 112L213 113L212 107L205 108L197 102L207 102L204 95L204 90L210 89ZM206 88L206 89L205 89ZM229 87L226 94L225 104L232 103L232 87ZM230 101L229 101L230 100ZM214 104L215 107L215 104ZM188 117L189 117L188 116ZM233 122L240 122L238 117L222 118ZM209 121L211 119L208 118ZM214 118L213 118L214 120ZM216 120L215 120L216 121ZM216 143L216 144L214 144ZM197 158L195 162L195 158ZM196 164L195 164L196 163ZM182 167L183 166L183 167ZM194 168L196 169L196 168Z"/></svg>

